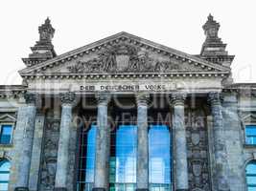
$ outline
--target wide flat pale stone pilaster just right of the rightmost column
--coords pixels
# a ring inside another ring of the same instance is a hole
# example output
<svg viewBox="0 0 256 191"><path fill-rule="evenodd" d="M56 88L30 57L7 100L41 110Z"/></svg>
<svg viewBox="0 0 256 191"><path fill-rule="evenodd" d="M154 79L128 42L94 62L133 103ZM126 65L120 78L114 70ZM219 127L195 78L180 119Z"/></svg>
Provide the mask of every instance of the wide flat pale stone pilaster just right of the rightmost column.
<svg viewBox="0 0 256 191"><path fill-rule="evenodd" d="M242 135L242 121L238 114L237 93L227 91L223 94L222 115L223 130L225 132L225 144L227 162L229 167L228 180L230 190L241 191L245 187L244 171L244 138Z"/></svg>

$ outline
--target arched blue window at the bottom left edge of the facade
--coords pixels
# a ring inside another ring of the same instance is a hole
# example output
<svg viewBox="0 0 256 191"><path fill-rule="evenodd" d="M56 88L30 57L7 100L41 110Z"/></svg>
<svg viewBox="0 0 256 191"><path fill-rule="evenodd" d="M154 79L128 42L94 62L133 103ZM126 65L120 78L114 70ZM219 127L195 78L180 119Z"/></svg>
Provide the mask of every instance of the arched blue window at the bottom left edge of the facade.
<svg viewBox="0 0 256 191"><path fill-rule="evenodd" d="M8 191L11 163L8 159L0 161L0 190Z"/></svg>

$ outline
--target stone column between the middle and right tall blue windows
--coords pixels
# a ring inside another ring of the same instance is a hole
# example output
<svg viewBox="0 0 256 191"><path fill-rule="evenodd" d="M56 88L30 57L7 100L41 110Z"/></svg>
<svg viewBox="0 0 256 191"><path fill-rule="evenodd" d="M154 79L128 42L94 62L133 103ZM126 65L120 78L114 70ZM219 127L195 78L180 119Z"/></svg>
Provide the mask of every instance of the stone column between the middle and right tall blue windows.
<svg viewBox="0 0 256 191"><path fill-rule="evenodd" d="M149 139L148 102L149 95L137 95L137 191L149 190Z"/></svg>

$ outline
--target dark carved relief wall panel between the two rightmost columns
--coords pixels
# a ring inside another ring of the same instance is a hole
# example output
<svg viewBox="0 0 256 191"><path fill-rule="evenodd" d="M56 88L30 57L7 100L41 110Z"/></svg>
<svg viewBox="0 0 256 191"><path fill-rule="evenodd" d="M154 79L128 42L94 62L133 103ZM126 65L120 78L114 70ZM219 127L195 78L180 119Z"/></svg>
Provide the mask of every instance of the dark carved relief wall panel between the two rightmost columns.
<svg viewBox="0 0 256 191"><path fill-rule="evenodd" d="M193 191L209 191L207 126L204 113L191 110L187 117L189 187Z"/></svg>

